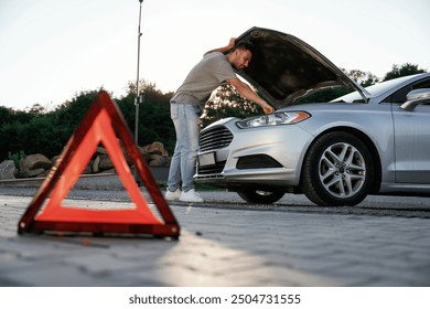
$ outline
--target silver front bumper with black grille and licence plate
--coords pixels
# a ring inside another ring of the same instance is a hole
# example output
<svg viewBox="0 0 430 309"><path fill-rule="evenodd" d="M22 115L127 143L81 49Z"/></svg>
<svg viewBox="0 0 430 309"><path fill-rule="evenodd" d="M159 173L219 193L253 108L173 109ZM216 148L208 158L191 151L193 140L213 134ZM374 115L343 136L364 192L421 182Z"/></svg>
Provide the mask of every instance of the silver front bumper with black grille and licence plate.
<svg viewBox="0 0 430 309"><path fill-rule="evenodd" d="M298 185L312 136L297 125L239 129L236 120L202 130L195 181L230 189Z"/></svg>

